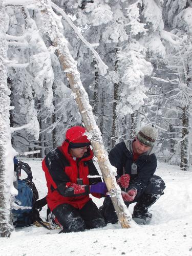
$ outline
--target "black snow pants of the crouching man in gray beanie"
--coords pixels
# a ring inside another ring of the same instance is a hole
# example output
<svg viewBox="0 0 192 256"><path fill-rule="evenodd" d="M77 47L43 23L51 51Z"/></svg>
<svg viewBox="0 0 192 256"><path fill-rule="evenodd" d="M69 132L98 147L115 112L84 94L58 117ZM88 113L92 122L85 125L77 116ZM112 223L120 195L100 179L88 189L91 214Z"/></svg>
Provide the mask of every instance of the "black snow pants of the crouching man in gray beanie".
<svg viewBox="0 0 192 256"><path fill-rule="evenodd" d="M136 203L134 206L134 214L141 213L145 214L148 208L154 204L161 195L164 194L163 190L165 189L164 181L159 177L154 175L148 182L147 187L144 189L143 193L140 196L136 196L132 202L124 202L127 208L130 204ZM100 207L102 216L105 220L105 223L115 224L118 222L117 215L111 198L106 197L104 199L103 205Z"/></svg>

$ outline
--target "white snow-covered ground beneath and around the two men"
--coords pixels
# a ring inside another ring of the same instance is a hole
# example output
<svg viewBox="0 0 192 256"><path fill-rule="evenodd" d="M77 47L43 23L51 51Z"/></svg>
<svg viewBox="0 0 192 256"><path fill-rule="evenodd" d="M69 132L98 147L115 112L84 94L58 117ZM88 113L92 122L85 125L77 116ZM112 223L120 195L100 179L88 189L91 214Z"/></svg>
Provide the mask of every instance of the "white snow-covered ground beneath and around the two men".
<svg viewBox="0 0 192 256"><path fill-rule="evenodd" d="M32 167L39 197L47 187L41 161L26 160ZM16 229L9 239L0 238L0 255L190 255L192 256L192 172L158 164L157 175L166 183L165 194L151 207L150 225L122 229L119 224L78 233L58 234L44 227ZM100 206L102 199L95 199ZM130 211L133 212L131 205ZM40 214L46 216L46 207Z"/></svg>

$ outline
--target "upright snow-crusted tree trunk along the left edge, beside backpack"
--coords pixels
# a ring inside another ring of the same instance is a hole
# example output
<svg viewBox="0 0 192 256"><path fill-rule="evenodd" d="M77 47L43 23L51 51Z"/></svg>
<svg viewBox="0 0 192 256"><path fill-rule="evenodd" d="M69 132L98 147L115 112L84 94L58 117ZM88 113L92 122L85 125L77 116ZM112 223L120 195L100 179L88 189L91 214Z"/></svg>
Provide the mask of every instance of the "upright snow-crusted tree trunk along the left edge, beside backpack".
<svg viewBox="0 0 192 256"><path fill-rule="evenodd" d="M7 70L4 64L7 57L5 20L5 10L0 0L0 237L10 237L11 230L13 230L11 221L13 150L9 126L10 98L8 97ZM9 170L11 168L12 177L9 177Z"/></svg>

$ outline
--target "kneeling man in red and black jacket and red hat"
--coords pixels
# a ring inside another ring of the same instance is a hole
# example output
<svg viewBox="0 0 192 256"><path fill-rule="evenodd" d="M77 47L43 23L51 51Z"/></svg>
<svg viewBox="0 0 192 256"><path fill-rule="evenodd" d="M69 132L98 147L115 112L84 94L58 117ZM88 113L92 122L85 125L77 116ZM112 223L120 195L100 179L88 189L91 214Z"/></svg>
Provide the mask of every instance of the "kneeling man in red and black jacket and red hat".
<svg viewBox="0 0 192 256"><path fill-rule="evenodd" d="M78 232L105 226L104 219L90 194L97 198L107 189L92 161L93 152L86 129L74 126L67 130L61 146L53 149L42 161L48 195L47 203L62 227L62 232Z"/></svg>

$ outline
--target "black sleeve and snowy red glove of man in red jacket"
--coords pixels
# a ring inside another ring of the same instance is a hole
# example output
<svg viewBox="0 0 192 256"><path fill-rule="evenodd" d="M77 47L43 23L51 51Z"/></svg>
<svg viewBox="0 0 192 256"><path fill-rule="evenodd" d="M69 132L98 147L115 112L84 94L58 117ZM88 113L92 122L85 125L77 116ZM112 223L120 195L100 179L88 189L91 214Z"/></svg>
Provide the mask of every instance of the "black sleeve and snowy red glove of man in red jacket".
<svg viewBox="0 0 192 256"><path fill-rule="evenodd" d="M53 181L57 185L57 191L62 196L78 197L89 194L89 186L83 185L84 189L80 189L80 185L71 183L64 171L65 167L69 166L69 162L57 148L46 156L45 163ZM52 189L54 188L52 187ZM76 193L77 191L79 191L79 193ZM80 193L81 191L83 191L83 193Z"/></svg>

